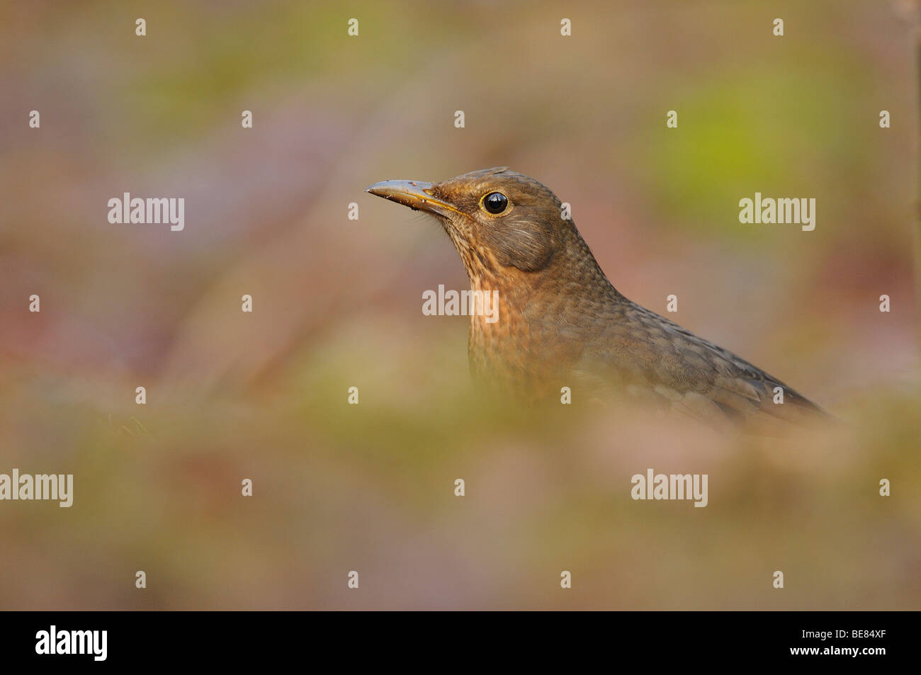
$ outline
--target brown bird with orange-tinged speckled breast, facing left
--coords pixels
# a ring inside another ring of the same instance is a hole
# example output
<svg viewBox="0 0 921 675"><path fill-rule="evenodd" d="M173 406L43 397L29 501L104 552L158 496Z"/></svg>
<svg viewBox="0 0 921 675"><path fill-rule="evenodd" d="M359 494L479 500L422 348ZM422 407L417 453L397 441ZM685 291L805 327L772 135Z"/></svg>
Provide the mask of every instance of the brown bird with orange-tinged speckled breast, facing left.
<svg viewBox="0 0 921 675"><path fill-rule="evenodd" d="M694 417L804 421L822 409L779 379L621 295L556 195L507 167L440 183L367 188L435 215L470 277L498 291L498 319L472 315L472 374L534 400L628 393ZM783 403L775 403L775 388Z"/></svg>

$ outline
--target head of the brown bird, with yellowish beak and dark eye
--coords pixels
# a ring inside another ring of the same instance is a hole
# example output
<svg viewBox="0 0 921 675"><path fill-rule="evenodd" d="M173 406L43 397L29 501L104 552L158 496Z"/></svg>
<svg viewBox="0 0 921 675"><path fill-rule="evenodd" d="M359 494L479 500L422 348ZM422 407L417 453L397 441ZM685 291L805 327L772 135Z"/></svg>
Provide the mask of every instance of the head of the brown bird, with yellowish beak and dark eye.
<svg viewBox="0 0 921 675"><path fill-rule="evenodd" d="M574 240L585 247L556 195L507 167L438 183L385 180L366 192L435 215L474 282L540 273L564 262Z"/></svg>

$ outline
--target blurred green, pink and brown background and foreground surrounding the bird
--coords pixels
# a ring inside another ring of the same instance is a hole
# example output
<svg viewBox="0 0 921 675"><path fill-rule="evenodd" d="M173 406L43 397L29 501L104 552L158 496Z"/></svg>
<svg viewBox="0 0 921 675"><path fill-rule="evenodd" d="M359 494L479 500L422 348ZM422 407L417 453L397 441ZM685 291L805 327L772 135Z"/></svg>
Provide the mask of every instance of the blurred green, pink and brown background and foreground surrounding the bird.
<svg viewBox="0 0 921 675"><path fill-rule="evenodd" d="M0 5L0 472L75 476L0 503L0 608L919 609L915 54L871 0ZM844 424L484 405L468 320L421 312L456 252L363 191L497 165ZM740 225L754 192L815 230ZM650 467L709 506L631 500Z"/></svg>

